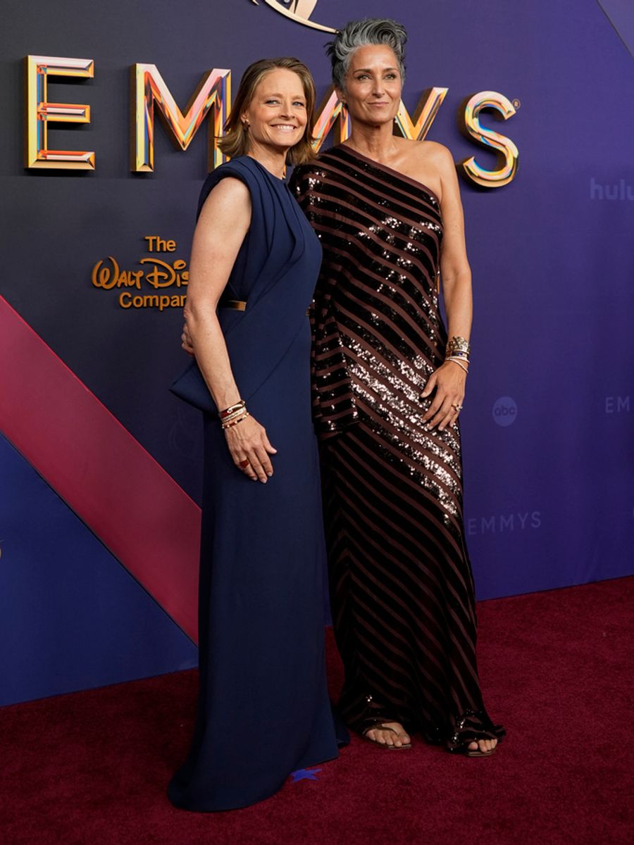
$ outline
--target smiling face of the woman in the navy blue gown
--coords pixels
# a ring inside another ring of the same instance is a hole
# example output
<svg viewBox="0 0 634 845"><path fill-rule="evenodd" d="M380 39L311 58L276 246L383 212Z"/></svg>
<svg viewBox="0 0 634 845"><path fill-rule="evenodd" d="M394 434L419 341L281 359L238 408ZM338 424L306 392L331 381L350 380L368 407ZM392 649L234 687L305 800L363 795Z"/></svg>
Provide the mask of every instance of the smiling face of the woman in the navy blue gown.
<svg viewBox="0 0 634 845"><path fill-rule="evenodd" d="M249 152L258 147L289 150L306 131L306 95L292 70L276 68L260 80L240 116L249 124Z"/></svg>

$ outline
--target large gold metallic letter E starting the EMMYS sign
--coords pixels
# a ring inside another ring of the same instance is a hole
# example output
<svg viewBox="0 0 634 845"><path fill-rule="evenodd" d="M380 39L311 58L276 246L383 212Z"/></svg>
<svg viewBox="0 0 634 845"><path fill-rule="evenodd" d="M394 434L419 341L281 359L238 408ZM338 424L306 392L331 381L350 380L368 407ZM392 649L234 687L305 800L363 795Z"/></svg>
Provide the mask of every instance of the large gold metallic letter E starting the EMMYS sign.
<svg viewBox="0 0 634 845"><path fill-rule="evenodd" d="M84 150L49 150L48 123L90 123L90 106L52 103L47 97L49 76L92 78L90 58L25 57L25 167L94 170L95 153Z"/></svg>

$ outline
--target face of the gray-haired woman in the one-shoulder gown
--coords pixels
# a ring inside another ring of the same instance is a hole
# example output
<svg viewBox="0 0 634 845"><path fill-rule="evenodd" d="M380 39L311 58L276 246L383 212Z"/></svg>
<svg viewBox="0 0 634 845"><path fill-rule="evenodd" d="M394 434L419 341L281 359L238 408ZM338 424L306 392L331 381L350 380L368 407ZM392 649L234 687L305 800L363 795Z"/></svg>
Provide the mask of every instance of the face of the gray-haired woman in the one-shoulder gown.
<svg viewBox="0 0 634 845"><path fill-rule="evenodd" d="M390 123L401 103L402 78L391 47L357 47L350 58L346 90L338 91L353 120L378 125Z"/></svg>

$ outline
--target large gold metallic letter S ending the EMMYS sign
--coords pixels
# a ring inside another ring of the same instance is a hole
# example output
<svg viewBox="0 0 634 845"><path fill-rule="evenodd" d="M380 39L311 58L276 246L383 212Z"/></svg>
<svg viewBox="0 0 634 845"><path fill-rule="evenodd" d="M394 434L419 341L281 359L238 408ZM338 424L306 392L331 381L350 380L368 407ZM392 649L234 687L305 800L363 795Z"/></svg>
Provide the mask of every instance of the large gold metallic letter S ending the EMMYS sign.
<svg viewBox="0 0 634 845"><path fill-rule="evenodd" d="M483 166L478 165L472 155L471 158L461 161L459 167L462 168L463 174L468 179L480 185L480 187L501 188L502 185L507 185L516 177L519 152L510 138L500 135L493 129L485 129L480 124L479 114L484 108L493 108L505 120L508 120L515 114L515 107L505 95L499 94L497 91L480 91L468 99L464 106L464 112L459 115L462 132L467 137L474 138L478 143L484 144L489 150L495 150L499 155L502 155L504 164L499 170L486 170Z"/></svg>

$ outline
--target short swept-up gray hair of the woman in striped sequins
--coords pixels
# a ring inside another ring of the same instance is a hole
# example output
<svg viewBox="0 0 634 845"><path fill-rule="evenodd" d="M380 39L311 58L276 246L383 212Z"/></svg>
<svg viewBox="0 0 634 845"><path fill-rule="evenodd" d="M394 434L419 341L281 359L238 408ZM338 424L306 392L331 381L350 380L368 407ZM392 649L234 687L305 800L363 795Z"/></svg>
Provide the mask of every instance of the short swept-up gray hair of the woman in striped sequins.
<svg viewBox="0 0 634 845"><path fill-rule="evenodd" d="M385 44L396 57L401 79L405 80L405 42L407 31L391 18L364 18L351 20L338 30L333 41L326 45L326 55L331 58L332 81L337 88L346 89L346 74L350 59L357 47Z"/></svg>

